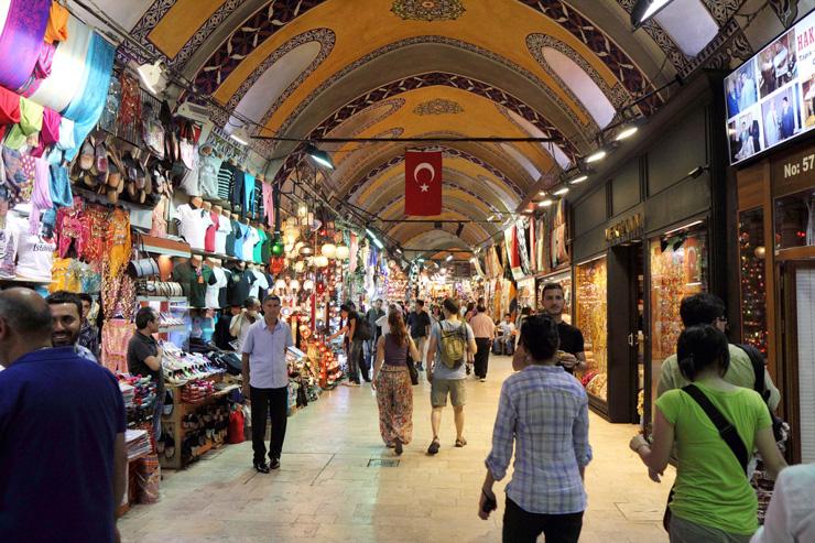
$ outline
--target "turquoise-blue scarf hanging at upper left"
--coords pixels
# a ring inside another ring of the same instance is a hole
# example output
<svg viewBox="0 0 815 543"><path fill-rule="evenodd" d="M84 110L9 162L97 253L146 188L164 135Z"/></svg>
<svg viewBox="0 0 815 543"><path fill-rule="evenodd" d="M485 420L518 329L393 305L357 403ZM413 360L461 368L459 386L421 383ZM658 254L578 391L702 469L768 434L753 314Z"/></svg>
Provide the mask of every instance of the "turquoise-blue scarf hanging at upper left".
<svg viewBox="0 0 815 543"><path fill-rule="evenodd" d="M113 72L115 53L116 47L94 33L86 61L87 77L83 86L84 91L63 111L63 116L74 120L74 141L77 143L77 146L65 152L65 159L68 161L74 160L79 152L79 145L101 117L108 97L110 75Z"/></svg>

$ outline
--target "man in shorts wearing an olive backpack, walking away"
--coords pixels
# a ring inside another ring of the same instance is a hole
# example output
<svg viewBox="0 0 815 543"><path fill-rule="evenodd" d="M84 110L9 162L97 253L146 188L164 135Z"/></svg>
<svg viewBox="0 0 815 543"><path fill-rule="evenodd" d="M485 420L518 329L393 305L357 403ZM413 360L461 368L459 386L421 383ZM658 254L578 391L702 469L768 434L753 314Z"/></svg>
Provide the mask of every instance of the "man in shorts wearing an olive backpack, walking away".
<svg viewBox="0 0 815 543"><path fill-rule="evenodd" d="M427 381L431 383L431 424L433 442L428 455L435 455L441 447L438 427L442 424L442 410L447 405L447 395L453 403L456 421L456 447L464 447L464 405L467 400L466 365L477 350L472 328L459 317L459 306L446 298L442 304L445 319L433 326L427 349Z"/></svg>

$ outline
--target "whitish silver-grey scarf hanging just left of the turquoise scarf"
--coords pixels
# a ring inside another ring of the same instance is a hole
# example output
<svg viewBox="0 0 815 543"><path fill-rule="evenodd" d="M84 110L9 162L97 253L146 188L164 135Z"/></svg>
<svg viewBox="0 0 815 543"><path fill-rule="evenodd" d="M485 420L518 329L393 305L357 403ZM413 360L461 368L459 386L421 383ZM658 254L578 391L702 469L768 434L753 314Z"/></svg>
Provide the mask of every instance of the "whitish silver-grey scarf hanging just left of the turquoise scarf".
<svg viewBox="0 0 815 543"><path fill-rule="evenodd" d="M54 53L51 65L51 76L42 82L40 88L31 96L32 101L51 108L54 111L64 111L85 85L85 59L90 46L90 26L87 26L75 17L68 18L68 39L61 42ZM105 89L107 91L107 87ZM74 120L74 119L72 119ZM76 142L79 145L82 141Z"/></svg>

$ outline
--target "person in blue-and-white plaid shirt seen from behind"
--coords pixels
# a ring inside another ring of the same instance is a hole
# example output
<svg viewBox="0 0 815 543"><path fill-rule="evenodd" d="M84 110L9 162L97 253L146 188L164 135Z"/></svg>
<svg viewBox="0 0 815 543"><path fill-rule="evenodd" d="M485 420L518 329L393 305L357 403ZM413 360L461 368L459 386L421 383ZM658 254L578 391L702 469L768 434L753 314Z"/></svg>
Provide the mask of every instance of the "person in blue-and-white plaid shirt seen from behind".
<svg viewBox="0 0 815 543"><path fill-rule="evenodd" d="M501 388L492 450L481 490L479 517L495 509L495 481L507 475L503 541L577 542L586 509L583 475L591 460L588 397L557 362L557 324L548 316L528 317L513 359L520 369Z"/></svg>

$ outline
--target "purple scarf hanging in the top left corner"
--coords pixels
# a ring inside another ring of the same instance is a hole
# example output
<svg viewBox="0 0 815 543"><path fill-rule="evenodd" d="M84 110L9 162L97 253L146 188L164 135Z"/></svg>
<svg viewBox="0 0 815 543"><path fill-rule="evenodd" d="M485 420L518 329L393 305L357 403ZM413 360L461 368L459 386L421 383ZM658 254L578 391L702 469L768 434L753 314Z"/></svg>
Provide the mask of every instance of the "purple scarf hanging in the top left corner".
<svg viewBox="0 0 815 543"><path fill-rule="evenodd" d="M31 77L45 43L50 13L51 0L11 0L0 34L0 85L9 90L19 89Z"/></svg>

